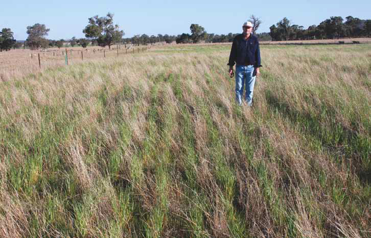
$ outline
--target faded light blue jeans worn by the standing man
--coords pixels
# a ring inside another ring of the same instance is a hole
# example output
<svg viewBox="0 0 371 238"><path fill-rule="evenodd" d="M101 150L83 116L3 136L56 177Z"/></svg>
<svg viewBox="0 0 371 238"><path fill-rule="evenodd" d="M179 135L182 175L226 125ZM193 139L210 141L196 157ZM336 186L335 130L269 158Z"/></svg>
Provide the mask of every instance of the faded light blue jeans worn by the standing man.
<svg viewBox="0 0 371 238"><path fill-rule="evenodd" d="M249 106L252 103L252 92L254 90L255 78L252 76L254 71L253 65L236 65L236 101L239 105L242 104L243 88L246 87L245 100Z"/></svg>

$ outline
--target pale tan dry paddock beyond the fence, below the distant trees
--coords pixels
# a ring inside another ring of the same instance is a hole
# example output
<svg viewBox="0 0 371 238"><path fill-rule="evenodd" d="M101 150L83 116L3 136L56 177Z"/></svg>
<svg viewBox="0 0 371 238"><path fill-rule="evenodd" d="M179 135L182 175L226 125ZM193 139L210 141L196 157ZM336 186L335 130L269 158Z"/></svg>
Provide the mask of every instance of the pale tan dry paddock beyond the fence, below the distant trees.
<svg viewBox="0 0 371 238"><path fill-rule="evenodd" d="M262 45L289 45L289 44L338 44L339 41L344 41L345 44L351 44L354 40L364 44L371 43L371 38L346 38L334 40L304 40L304 41L263 41ZM198 46L228 46L230 42L226 43L200 43ZM126 46L126 45L125 45ZM29 50L29 49L15 49L10 51L0 52L0 78L8 80L9 78L21 77L30 73L41 72L44 69L53 68L56 66L65 65L65 50L67 49L68 64L80 64L84 61L102 60L104 58L125 57L127 54L137 54L153 50L164 50L172 47L177 47L175 41L172 44L156 43L148 46L132 46L125 49L124 45L113 45L109 50L108 47L91 46L87 48L82 47L67 47L67 48L49 48L47 50ZM194 46L193 44L183 44L182 47ZM117 47L119 54L117 54ZM63 51L63 52L62 52ZM82 55L81 55L82 51ZM104 52L105 51L105 52ZM40 55L40 66L38 61L38 54Z"/></svg>

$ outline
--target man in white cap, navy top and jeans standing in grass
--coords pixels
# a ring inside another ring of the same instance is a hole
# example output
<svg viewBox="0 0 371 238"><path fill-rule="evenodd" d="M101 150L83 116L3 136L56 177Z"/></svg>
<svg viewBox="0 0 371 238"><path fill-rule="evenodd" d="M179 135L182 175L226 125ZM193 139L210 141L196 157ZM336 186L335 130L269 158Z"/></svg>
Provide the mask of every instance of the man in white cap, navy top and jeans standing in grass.
<svg viewBox="0 0 371 238"><path fill-rule="evenodd" d="M252 92L256 76L260 75L260 48L258 38L251 34L252 23L247 21L242 25L243 33L233 39L229 55L229 76L233 77L233 66L236 62L236 101L242 104L244 86L245 100L252 105Z"/></svg>

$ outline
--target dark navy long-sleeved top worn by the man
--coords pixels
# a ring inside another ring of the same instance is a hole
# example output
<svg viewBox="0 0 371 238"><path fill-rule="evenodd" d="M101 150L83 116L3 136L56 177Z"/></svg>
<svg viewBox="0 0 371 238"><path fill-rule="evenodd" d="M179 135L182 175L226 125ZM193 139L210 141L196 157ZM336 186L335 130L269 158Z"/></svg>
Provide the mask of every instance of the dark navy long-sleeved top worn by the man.
<svg viewBox="0 0 371 238"><path fill-rule="evenodd" d="M249 64L254 65L255 68L262 67L258 37L251 34L247 42L247 47L243 45L245 42L242 34L237 35L233 39L228 65L234 66L236 62L238 65ZM244 48L246 49L246 53L243 52Z"/></svg>

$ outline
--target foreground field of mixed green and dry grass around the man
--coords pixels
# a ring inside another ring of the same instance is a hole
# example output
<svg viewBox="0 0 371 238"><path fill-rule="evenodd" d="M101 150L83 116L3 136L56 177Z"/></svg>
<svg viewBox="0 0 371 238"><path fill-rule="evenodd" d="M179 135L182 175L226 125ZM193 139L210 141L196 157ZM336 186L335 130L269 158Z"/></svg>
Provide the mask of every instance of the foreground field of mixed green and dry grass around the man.
<svg viewBox="0 0 371 238"><path fill-rule="evenodd" d="M2 67L0 236L371 237L371 45L229 49Z"/></svg>

